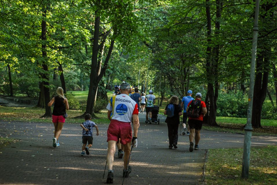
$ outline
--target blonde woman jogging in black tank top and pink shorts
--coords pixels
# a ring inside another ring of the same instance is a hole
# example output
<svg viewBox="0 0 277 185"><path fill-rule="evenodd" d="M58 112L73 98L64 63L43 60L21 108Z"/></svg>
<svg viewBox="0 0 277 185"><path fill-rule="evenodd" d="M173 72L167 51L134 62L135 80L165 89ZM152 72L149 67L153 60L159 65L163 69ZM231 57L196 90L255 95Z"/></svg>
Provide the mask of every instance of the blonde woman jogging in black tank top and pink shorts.
<svg viewBox="0 0 277 185"><path fill-rule="evenodd" d="M68 100L63 95L63 88L58 87L57 96L53 97L48 103L48 106L51 107L54 103L53 113L52 113L52 122L54 123L55 132L53 138L53 147L59 146L58 138L61 135L61 130L63 124L65 123L65 118L63 117L66 114L65 110L69 110Z"/></svg>

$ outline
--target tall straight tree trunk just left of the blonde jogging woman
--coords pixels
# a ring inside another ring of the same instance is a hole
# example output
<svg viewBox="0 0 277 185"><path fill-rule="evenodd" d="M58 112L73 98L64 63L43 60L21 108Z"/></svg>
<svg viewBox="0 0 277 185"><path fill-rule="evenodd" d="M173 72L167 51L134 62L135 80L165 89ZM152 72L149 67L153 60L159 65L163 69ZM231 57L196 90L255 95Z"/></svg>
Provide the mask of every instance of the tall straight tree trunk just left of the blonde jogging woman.
<svg viewBox="0 0 277 185"><path fill-rule="evenodd" d="M42 75L43 78L43 90L44 90L44 103L45 103L45 114L41 117L50 117L52 116L51 107L48 107L46 103L50 101L50 90L49 90L49 75L48 75L48 65L47 65L47 51L46 51L46 14L47 7L43 5L43 21L41 23L41 49L42 49L42 58L43 58L43 70L44 73Z"/></svg>

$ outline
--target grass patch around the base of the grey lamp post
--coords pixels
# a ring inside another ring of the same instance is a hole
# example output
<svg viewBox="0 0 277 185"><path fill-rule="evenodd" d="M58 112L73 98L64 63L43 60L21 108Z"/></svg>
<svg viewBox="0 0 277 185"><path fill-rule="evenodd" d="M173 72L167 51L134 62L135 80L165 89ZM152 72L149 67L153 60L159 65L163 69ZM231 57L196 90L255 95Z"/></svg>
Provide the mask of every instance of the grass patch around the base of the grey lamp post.
<svg viewBox="0 0 277 185"><path fill-rule="evenodd" d="M251 148L248 179L241 178L242 156L243 149L209 149L206 184L277 184L277 146Z"/></svg>

